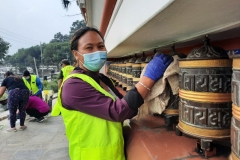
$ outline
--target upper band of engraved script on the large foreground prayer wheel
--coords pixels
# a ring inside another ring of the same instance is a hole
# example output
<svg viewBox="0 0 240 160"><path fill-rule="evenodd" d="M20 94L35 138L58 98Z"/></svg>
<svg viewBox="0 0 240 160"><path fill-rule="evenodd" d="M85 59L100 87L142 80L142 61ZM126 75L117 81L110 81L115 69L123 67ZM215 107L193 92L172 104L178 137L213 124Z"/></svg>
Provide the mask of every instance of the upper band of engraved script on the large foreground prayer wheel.
<svg viewBox="0 0 240 160"><path fill-rule="evenodd" d="M180 88L197 92L231 92L231 75L180 74Z"/></svg>

